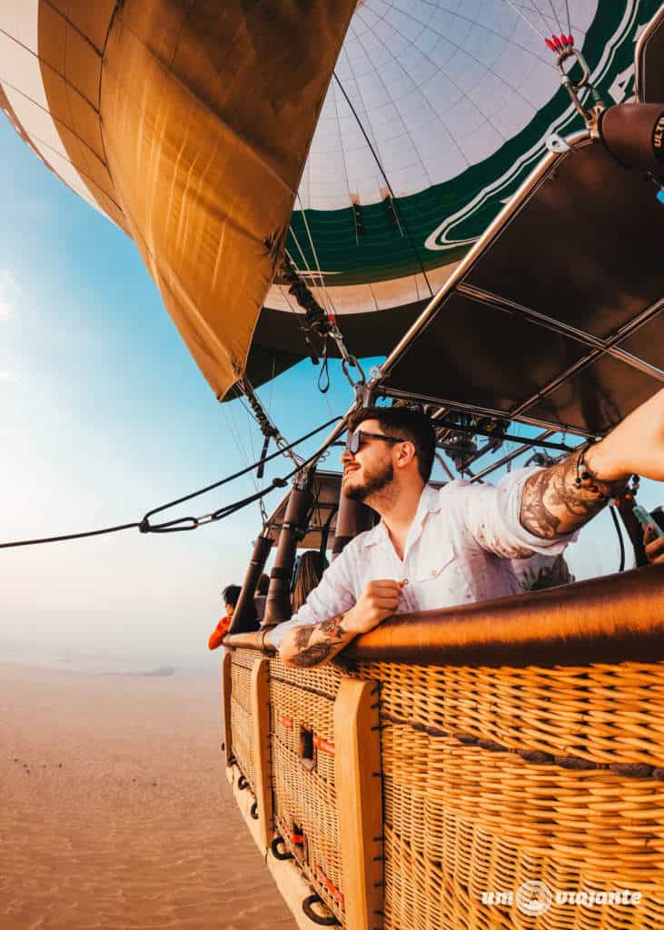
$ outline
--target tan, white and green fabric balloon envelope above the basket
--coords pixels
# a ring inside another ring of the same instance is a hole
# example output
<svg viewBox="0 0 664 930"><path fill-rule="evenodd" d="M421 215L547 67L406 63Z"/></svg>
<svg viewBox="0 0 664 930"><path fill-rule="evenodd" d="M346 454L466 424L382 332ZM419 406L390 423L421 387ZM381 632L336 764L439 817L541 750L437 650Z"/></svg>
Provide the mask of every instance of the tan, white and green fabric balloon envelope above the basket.
<svg viewBox="0 0 664 930"><path fill-rule="evenodd" d="M223 398L339 354L322 316L352 356L390 352L546 139L583 126L553 40L620 102L656 7L11 2L0 100L132 236Z"/></svg>

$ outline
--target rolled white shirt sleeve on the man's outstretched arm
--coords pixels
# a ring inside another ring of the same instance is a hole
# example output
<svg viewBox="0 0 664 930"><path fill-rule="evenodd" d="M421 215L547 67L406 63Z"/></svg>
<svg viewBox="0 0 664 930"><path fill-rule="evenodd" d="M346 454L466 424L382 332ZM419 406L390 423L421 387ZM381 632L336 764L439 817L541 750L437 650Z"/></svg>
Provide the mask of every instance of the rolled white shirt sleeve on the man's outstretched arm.
<svg viewBox="0 0 664 930"><path fill-rule="evenodd" d="M543 539L521 525L525 482L541 471L523 468L506 474L498 485L467 485L465 523L482 549L506 559L522 559L536 552L558 555L577 539L578 533Z"/></svg>

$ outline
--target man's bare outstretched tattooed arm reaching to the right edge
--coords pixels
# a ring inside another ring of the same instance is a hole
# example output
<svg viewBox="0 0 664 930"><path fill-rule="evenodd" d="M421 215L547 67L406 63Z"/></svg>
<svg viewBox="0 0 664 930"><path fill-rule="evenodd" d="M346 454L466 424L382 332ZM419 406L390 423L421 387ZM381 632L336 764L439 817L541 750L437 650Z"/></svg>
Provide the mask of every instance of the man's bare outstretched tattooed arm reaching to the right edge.
<svg viewBox="0 0 664 930"><path fill-rule="evenodd" d="M664 390L579 458L574 452L525 482L521 525L535 536L573 533L619 494L632 473L664 481Z"/></svg>

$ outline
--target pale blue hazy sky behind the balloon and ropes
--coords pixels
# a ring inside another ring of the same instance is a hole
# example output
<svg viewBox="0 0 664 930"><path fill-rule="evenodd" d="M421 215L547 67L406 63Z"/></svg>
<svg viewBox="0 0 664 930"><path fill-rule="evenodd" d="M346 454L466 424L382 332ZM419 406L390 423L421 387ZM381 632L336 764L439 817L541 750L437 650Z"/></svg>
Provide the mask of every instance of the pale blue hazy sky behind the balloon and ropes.
<svg viewBox="0 0 664 930"><path fill-rule="evenodd" d="M3 540L132 522L258 458L255 425L237 403L218 404L125 234L55 179L5 119L0 158ZM339 369L319 394L308 361L262 397L290 439L352 402ZM286 471L278 462L271 473ZM184 512L253 490L244 479ZM657 486L642 498L655 506ZM193 533L2 551L0 653L20 645L35 656L70 649L213 665L206 638L219 591L242 580L258 528L252 506ZM616 570L607 518L584 537L570 550L578 577Z"/></svg>

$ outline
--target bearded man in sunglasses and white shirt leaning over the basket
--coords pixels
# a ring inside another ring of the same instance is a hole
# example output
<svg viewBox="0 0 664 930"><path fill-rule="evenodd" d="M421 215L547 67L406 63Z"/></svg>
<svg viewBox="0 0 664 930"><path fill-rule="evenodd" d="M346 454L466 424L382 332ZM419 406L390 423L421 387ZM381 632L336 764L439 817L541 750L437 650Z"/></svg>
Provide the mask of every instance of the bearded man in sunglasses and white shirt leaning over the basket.
<svg viewBox="0 0 664 930"><path fill-rule="evenodd" d="M343 453L342 493L381 516L330 565L307 603L269 633L288 664L329 661L396 612L469 604L518 591L509 560L564 550L631 473L664 480L664 391L602 442L497 486L427 485L431 420L404 407L358 411Z"/></svg>

